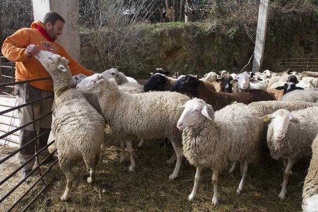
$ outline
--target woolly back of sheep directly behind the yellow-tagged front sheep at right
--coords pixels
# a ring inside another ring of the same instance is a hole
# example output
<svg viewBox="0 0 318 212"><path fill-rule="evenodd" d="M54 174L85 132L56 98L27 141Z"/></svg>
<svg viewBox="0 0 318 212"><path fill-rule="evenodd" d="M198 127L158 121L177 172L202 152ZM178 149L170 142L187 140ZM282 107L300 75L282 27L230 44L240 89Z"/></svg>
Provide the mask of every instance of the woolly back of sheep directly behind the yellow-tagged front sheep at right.
<svg viewBox="0 0 318 212"><path fill-rule="evenodd" d="M307 101L255 101L248 104L250 107L256 108L264 115L272 114L278 109L285 109L288 111L298 111L301 109L318 106L318 103Z"/></svg>

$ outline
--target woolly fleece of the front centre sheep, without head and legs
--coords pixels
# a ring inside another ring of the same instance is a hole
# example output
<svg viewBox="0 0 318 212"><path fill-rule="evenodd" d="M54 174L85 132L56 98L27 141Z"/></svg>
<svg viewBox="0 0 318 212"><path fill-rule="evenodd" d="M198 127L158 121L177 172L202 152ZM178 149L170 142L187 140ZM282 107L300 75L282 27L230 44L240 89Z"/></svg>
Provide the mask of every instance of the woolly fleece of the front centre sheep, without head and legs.
<svg viewBox="0 0 318 212"><path fill-rule="evenodd" d="M208 112L214 121L204 117L183 129L183 154L190 164L221 171L229 161L245 158L248 163L257 162L263 123L255 117L262 114L243 103L216 112L208 104Z"/></svg>

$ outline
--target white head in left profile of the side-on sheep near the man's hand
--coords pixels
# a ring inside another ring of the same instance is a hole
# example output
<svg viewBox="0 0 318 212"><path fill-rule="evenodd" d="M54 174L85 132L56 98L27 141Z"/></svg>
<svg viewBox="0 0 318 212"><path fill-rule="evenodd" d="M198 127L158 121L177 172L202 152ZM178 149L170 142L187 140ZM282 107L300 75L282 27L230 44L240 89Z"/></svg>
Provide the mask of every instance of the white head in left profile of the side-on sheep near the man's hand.
<svg viewBox="0 0 318 212"><path fill-rule="evenodd" d="M76 90L83 93L101 93L103 86L109 84L109 80L103 75L95 73L86 77L81 83L76 86Z"/></svg>

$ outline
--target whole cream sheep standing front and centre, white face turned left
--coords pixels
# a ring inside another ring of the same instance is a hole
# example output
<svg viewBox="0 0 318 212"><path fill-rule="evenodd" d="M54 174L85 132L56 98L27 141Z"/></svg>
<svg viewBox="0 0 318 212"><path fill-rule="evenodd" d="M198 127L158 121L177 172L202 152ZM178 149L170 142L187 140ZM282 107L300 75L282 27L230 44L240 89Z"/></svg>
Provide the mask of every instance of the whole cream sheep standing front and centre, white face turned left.
<svg viewBox="0 0 318 212"><path fill-rule="evenodd" d="M248 164L257 162L263 123L255 119L261 113L243 103L228 105L214 112L210 104L194 98L184 104L177 127L182 132L183 154L189 163L197 167L194 187L188 197L193 201L203 167L213 170L214 196L212 204L218 200L218 174L229 161L241 161L242 179L236 193L243 191ZM251 130L253 128L253 130ZM229 130L235 129L235 130Z"/></svg>

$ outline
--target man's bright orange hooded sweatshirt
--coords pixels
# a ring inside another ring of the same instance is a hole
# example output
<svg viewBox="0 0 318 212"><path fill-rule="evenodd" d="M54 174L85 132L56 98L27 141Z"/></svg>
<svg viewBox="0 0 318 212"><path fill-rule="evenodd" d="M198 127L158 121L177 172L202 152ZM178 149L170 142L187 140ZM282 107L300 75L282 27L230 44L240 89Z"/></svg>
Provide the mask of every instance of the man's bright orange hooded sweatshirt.
<svg viewBox="0 0 318 212"><path fill-rule="evenodd" d="M32 80L50 76L41 63L34 57L28 58L25 55L26 47L30 44L39 45L40 50L50 51L54 54L65 57L69 60L69 67L72 75L84 73L92 75L93 72L77 63L58 42L48 41L37 29L36 25L45 30L45 25L41 21L34 21L31 28L22 28L8 37L3 46L2 54L10 61L16 62L16 81ZM53 90L53 81L36 81L30 83L32 86L46 91Z"/></svg>

